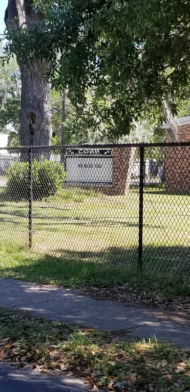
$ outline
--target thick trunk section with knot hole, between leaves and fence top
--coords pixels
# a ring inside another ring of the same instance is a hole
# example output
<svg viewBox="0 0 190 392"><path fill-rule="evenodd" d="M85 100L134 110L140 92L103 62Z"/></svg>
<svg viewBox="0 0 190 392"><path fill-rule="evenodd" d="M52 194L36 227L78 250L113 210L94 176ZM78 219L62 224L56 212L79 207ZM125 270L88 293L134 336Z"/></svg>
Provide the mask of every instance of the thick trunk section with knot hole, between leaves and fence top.
<svg viewBox="0 0 190 392"><path fill-rule="evenodd" d="M21 146L48 146L51 138L50 85L43 64L21 65Z"/></svg>

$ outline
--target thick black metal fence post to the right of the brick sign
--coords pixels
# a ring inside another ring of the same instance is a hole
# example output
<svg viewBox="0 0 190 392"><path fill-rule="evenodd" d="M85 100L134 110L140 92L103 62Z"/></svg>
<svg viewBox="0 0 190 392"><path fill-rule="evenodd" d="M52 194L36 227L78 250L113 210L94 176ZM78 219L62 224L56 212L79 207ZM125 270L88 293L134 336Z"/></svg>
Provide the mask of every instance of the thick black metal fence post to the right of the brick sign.
<svg viewBox="0 0 190 392"><path fill-rule="evenodd" d="M144 156L145 147L140 146L140 178L139 178L139 253L138 265L143 268L143 192L144 192Z"/></svg>

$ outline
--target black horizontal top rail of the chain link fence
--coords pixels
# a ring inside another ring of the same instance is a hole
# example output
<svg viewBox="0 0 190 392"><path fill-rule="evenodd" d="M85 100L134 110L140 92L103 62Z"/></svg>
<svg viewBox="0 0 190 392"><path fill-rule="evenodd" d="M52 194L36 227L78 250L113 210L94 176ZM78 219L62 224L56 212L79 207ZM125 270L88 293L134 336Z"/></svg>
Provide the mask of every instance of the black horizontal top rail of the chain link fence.
<svg viewBox="0 0 190 392"><path fill-rule="evenodd" d="M15 147L0 147L0 150L10 150L10 151L21 151L21 150L35 150L35 149L49 149L49 150L61 150L61 149L69 149L69 148L114 148L114 147L183 147L190 146L189 142L179 142L179 143L126 143L126 144L83 144L83 145L56 145L56 146L15 146Z"/></svg>

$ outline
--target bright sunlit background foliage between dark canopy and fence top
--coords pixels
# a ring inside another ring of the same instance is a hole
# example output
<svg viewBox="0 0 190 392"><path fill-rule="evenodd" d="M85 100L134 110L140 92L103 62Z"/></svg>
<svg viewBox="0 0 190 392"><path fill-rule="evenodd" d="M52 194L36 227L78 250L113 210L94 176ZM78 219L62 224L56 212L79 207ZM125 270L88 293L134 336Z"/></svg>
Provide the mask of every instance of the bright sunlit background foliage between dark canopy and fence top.
<svg viewBox="0 0 190 392"><path fill-rule="evenodd" d="M113 138L112 135L109 135L107 124L101 118L102 109L111 105L109 98L104 96L103 99L100 99L97 97L96 91L89 91L86 94L86 105L79 115L68 95L64 124L66 144L156 143L165 140L165 132L158 128L158 118L155 118L154 113L151 116L149 114L148 120L133 122L128 135ZM61 142L62 96L55 90L51 91L51 113L54 135L51 143L59 145Z"/></svg>

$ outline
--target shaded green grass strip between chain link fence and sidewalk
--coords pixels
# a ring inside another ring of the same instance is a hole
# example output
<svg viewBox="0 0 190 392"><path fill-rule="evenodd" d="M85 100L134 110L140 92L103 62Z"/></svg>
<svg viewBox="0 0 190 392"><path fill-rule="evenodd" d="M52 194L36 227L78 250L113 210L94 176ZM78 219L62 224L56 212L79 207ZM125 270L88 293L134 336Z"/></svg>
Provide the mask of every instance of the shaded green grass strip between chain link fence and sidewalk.
<svg viewBox="0 0 190 392"><path fill-rule="evenodd" d="M21 279L34 283L55 284L66 288L84 288L101 293L106 292L131 293L133 289L136 296L146 292L146 298L156 300L160 297L163 302L172 301L176 297L186 300L190 295L190 285L183 282L180 276L141 273L128 266L112 266L81 260L65 260L64 257L42 255L32 252L24 247L0 245L0 277Z"/></svg>

